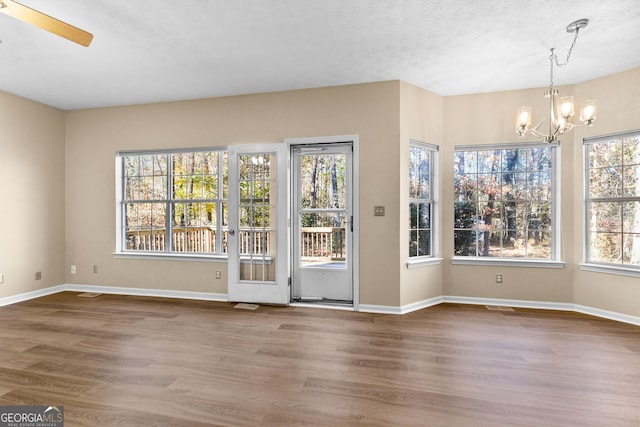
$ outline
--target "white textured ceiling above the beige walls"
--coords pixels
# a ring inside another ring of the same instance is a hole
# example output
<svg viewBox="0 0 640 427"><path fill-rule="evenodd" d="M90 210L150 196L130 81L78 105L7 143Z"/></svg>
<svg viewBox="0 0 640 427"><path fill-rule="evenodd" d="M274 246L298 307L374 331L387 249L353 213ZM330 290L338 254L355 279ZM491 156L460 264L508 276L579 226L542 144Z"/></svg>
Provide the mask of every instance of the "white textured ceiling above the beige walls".
<svg viewBox="0 0 640 427"><path fill-rule="evenodd" d="M0 13L0 90L61 109L383 80L440 95L548 85L549 49L588 18L556 84L640 66L638 0L20 0L85 48Z"/></svg>

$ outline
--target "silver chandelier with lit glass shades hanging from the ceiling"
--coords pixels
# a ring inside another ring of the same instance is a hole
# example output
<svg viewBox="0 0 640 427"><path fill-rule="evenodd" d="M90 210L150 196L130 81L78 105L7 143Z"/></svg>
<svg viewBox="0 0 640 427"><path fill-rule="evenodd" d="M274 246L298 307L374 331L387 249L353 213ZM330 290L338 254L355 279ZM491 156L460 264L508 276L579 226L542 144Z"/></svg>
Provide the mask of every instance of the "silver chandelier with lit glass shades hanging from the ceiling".
<svg viewBox="0 0 640 427"><path fill-rule="evenodd" d="M575 33L573 43L567 54L567 59L564 63L558 62L558 57L554 52L554 48L551 49L551 55L549 56L550 62L550 79L549 90L544 93L544 97L547 98L548 114L549 114L549 127L548 132L544 133L540 131L540 126L544 122L541 120L537 125L531 127L531 107L518 108L518 114L516 116L516 132L521 138L529 135L533 135L539 138L543 138L546 142L553 142L558 139L559 135L570 131L575 126L591 126L596 119L596 101L589 100L580 104L580 121L583 125L571 123L571 118L574 116L573 96L558 97L558 89L553 87L553 66L562 67L569 63L571 52L578 40L578 33L580 30L587 26L588 19L579 19L571 24L567 25L568 33Z"/></svg>

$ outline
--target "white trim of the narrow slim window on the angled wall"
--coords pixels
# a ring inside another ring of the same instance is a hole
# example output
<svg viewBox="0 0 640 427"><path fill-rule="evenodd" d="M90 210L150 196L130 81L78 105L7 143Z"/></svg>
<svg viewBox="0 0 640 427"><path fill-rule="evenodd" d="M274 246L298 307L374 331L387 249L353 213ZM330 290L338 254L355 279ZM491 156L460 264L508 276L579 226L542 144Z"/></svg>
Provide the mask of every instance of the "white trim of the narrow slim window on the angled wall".
<svg viewBox="0 0 640 427"><path fill-rule="evenodd" d="M440 191L440 147L435 144L429 144L428 142L422 142L415 139L409 140L409 149L411 146L416 146L430 150L431 160L431 255L422 256L409 256L407 259L407 268L418 268L429 265L439 265L442 262L440 255L440 209L439 209L439 191Z"/></svg>

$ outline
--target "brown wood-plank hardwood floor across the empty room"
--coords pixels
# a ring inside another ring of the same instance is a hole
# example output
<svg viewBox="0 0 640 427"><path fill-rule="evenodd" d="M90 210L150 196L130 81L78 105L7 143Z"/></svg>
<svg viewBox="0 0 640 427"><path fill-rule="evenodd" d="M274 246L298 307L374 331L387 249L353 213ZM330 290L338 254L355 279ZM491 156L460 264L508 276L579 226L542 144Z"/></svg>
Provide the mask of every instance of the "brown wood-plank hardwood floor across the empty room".
<svg viewBox="0 0 640 427"><path fill-rule="evenodd" d="M0 308L0 405L67 426L640 426L640 328L64 292Z"/></svg>

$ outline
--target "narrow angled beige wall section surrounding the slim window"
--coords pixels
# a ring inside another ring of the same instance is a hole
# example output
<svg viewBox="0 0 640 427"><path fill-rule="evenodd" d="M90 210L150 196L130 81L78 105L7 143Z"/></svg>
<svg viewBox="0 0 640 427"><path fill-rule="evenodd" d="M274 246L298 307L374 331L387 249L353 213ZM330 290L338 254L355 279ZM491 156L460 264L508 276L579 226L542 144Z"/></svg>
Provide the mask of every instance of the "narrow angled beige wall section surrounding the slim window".
<svg viewBox="0 0 640 427"><path fill-rule="evenodd" d="M442 295L442 265L407 268L409 260L409 141L417 140L434 144L442 149L444 98L416 86L400 84L400 218L398 224L400 251L400 305L423 301ZM436 196L441 199L442 187ZM439 200L437 200L438 202ZM437 215L442 204L436 202ZM442 240L442 230L437 229L436 241ZM442 256L437 248L436 256Z"/></svg>

